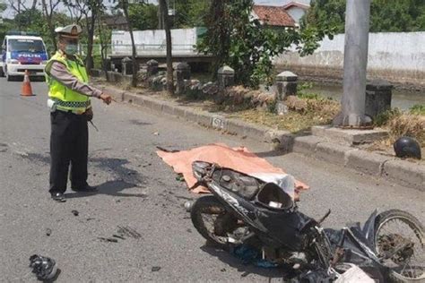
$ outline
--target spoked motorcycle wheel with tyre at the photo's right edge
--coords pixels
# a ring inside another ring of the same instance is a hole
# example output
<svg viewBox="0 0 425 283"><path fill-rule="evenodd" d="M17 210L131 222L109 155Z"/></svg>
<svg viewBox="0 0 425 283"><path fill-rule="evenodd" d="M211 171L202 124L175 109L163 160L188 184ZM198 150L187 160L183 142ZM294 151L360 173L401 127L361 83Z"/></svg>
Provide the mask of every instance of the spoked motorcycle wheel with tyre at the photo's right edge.
<svg viewBox="0 0 425 283"><path fill-rule="evenodd" d="M375 220L375 249L394 282L425 282L425 230L403 210L387 210Z"/></svg>

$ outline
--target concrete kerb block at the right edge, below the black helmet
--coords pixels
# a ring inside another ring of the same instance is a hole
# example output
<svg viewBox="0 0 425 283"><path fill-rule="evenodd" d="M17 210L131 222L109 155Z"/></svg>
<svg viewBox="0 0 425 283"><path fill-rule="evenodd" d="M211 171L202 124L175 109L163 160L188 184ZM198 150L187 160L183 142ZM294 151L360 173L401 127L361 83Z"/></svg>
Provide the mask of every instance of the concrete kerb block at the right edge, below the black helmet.
<svg viewBox="0 0 425 283"><path fill-rule="evenodd" d="M405 160L389 160L384 163L382 176L398 184L425 192L425 166Z"/></svg>

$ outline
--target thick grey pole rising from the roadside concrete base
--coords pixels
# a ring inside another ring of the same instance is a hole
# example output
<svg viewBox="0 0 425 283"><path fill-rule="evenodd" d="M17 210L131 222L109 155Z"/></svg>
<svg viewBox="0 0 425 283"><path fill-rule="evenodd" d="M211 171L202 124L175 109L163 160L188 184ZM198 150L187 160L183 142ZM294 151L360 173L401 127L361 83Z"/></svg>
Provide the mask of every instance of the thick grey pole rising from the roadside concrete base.
<svg viewBox="0 0 425 283"><path fill-rule="evenodd" d="M365 116L370 0L347 0L345 11L343 111L333 124L360 127L371 122Z"/></svg>

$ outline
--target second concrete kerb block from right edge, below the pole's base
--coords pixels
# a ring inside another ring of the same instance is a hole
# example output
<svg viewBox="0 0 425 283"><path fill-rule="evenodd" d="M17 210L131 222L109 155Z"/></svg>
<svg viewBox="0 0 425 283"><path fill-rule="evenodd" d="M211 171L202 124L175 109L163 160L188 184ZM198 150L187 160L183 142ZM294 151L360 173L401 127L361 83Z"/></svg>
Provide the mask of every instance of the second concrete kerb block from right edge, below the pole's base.
<svg viewBox="0 0 425 283"><path fill-rule="evenodd" d="M345 159L346 167L365 174L381 176L384 163L392 158L364 150L350 150Z"/></svg>

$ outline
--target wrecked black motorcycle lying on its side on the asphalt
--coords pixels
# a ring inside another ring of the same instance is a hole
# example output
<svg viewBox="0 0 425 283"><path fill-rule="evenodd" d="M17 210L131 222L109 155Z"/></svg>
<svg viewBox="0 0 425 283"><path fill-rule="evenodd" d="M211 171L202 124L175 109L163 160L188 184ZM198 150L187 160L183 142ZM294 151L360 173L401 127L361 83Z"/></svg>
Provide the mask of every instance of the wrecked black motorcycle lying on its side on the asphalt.
<svg viewBox="0 0 425 283"><path fill-rule="evenodd" d="M197 184L212 193L193 204L192 222L221 249L254 247L301 282L334 281L353 264L380 281L425 281L424 228L405 211L375 211L363 227L325 229L321 223L330 210L320 220L301 213L288 193L294 189L289 175L267 183L207 162L192 167Z"/></svg>

